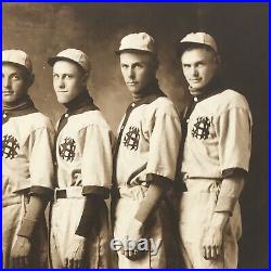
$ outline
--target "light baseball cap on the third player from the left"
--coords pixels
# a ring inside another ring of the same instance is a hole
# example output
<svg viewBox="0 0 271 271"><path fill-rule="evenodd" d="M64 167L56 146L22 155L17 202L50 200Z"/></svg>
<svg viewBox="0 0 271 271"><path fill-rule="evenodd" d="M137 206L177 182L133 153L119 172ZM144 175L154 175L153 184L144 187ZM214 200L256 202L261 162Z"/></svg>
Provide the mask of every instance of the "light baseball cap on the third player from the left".
<svg viewBox="0 0 271 271"><path fill-rule="evenodd" d="M152 36L146 33L133 33L125 36L116 54L126 50L136 50L156 54L156 44Z"/></svg>

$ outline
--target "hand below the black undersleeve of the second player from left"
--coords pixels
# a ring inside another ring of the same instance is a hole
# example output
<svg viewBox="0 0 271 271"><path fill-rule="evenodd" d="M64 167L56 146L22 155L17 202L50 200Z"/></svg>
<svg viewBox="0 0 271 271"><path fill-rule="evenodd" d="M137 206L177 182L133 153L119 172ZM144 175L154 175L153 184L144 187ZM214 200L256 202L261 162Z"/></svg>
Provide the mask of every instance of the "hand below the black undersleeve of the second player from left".
<svg viewBox="0 0 271 271"><path fill-rule="evenodd" d="M65 256L65 268L83 268L86 237L74 235Z"/></svg>

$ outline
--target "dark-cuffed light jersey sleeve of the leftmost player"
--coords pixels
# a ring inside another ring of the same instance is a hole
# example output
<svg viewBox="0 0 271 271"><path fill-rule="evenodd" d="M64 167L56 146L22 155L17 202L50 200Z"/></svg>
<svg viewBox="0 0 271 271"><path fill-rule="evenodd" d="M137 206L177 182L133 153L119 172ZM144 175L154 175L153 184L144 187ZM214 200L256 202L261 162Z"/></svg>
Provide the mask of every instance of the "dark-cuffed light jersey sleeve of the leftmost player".
<svg viewBox="0 0 271 271"><path fill-rule="evenodd" d="M52 127L39 128L30 134L29 172L33 194L51 196L53 193L53 142L54 131Z"/></svg>

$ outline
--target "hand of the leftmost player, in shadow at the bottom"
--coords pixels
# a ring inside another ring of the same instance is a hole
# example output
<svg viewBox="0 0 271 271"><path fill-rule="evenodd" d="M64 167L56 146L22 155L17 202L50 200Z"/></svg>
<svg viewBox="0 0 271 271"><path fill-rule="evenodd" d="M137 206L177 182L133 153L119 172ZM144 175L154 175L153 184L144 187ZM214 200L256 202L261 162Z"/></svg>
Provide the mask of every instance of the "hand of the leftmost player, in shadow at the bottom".
<svg viewBox="0 0 271 271"><path fill-rule="evenodd" d="M11 248L11 268L29 267L29 254L31 243L27 237L17 236L17 240Z"/></svg>

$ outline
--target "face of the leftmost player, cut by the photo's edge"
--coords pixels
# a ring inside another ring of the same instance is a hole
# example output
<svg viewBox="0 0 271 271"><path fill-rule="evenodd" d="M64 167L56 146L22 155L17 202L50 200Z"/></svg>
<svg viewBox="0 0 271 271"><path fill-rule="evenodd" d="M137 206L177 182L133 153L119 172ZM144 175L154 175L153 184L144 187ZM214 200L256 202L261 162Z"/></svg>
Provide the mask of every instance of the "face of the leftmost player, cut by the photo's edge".
<svg viewBox="0 0 271 271"><path fill-rule="evenodd" d="M27 72L10 64L2 64L2 101L4 104L16 103L30 87Z"/></svg>

